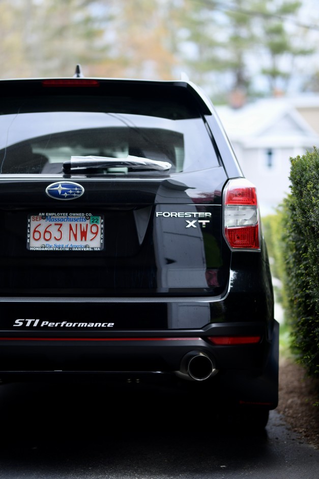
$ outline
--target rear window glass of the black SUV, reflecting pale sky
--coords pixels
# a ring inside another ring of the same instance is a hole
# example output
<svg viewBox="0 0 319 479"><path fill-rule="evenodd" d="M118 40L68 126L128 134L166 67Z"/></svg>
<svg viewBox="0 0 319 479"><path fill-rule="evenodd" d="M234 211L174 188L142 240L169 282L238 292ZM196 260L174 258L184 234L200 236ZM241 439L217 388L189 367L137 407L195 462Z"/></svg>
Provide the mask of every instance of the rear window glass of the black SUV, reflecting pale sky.
<svg viewBox="0 0 319 479"><path fill-rule="evenodd" d="M106 87L104 87L104 90ZM218 166L190 95L61 94L6 96L0 107L0 173L62 174L71 156L169 162L169 173ZM107 173L132 173L127 168ZM154 171L148 174L156 174Z"/></svg>

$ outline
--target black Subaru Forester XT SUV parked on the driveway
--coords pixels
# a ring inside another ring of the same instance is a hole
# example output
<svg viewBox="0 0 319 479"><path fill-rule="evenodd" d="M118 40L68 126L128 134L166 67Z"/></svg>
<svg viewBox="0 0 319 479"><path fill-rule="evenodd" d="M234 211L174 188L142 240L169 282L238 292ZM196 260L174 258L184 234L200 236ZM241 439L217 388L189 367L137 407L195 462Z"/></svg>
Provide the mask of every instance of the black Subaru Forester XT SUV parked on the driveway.
<svg viewBox="0 0 319 479"><path fill-rule="evenodd" d="M207 96L185 81L0 84L0 378L169 384L266 425L269 261Z"/></svg>

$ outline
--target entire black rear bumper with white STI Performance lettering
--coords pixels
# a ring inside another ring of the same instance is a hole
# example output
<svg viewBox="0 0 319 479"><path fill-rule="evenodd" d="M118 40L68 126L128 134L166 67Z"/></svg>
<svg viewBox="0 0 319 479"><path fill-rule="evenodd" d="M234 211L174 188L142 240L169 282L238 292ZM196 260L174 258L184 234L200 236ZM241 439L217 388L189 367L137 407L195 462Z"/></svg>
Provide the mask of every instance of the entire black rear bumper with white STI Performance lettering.
<svg viewBox="0 0 319 479"><path fill-rule="evenodd" d="M3 298L0 379L166 378L195 388L213 387L222 401L263 403L273 409L278 401L279 325L265 318L254 321L255 315L248 316L250 321L229 322L228 303L229 297L156 302ZM231 316L236 319L234 308ZM228 344L229 337L244 341Z"/></svg>

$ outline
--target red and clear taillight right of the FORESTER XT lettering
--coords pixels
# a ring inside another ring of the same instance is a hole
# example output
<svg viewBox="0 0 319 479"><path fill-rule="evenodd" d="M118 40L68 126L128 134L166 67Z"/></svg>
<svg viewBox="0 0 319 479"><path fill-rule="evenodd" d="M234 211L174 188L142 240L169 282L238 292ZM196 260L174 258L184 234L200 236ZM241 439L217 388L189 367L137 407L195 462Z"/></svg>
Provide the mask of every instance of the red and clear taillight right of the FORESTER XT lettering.
<svg viewBox="0 0 319 479"><path fill-rule="evenodd" d="M256 188L245 178L229 180L224 190L224 236L231 250L259 250Z"/></svg>

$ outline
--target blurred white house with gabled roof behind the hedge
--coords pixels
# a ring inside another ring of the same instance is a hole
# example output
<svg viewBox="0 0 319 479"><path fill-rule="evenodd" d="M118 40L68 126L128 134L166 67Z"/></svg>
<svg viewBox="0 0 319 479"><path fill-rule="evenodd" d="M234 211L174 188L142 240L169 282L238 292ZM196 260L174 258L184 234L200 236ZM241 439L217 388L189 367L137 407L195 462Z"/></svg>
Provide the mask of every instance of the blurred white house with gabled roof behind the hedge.
<svg viewBox="0 0 319 479"><path fill-rule="evenodd" d="M262 215L289 193L290 158L319 147L319 95L269 98L241 108L216 107Z"/></svg>

